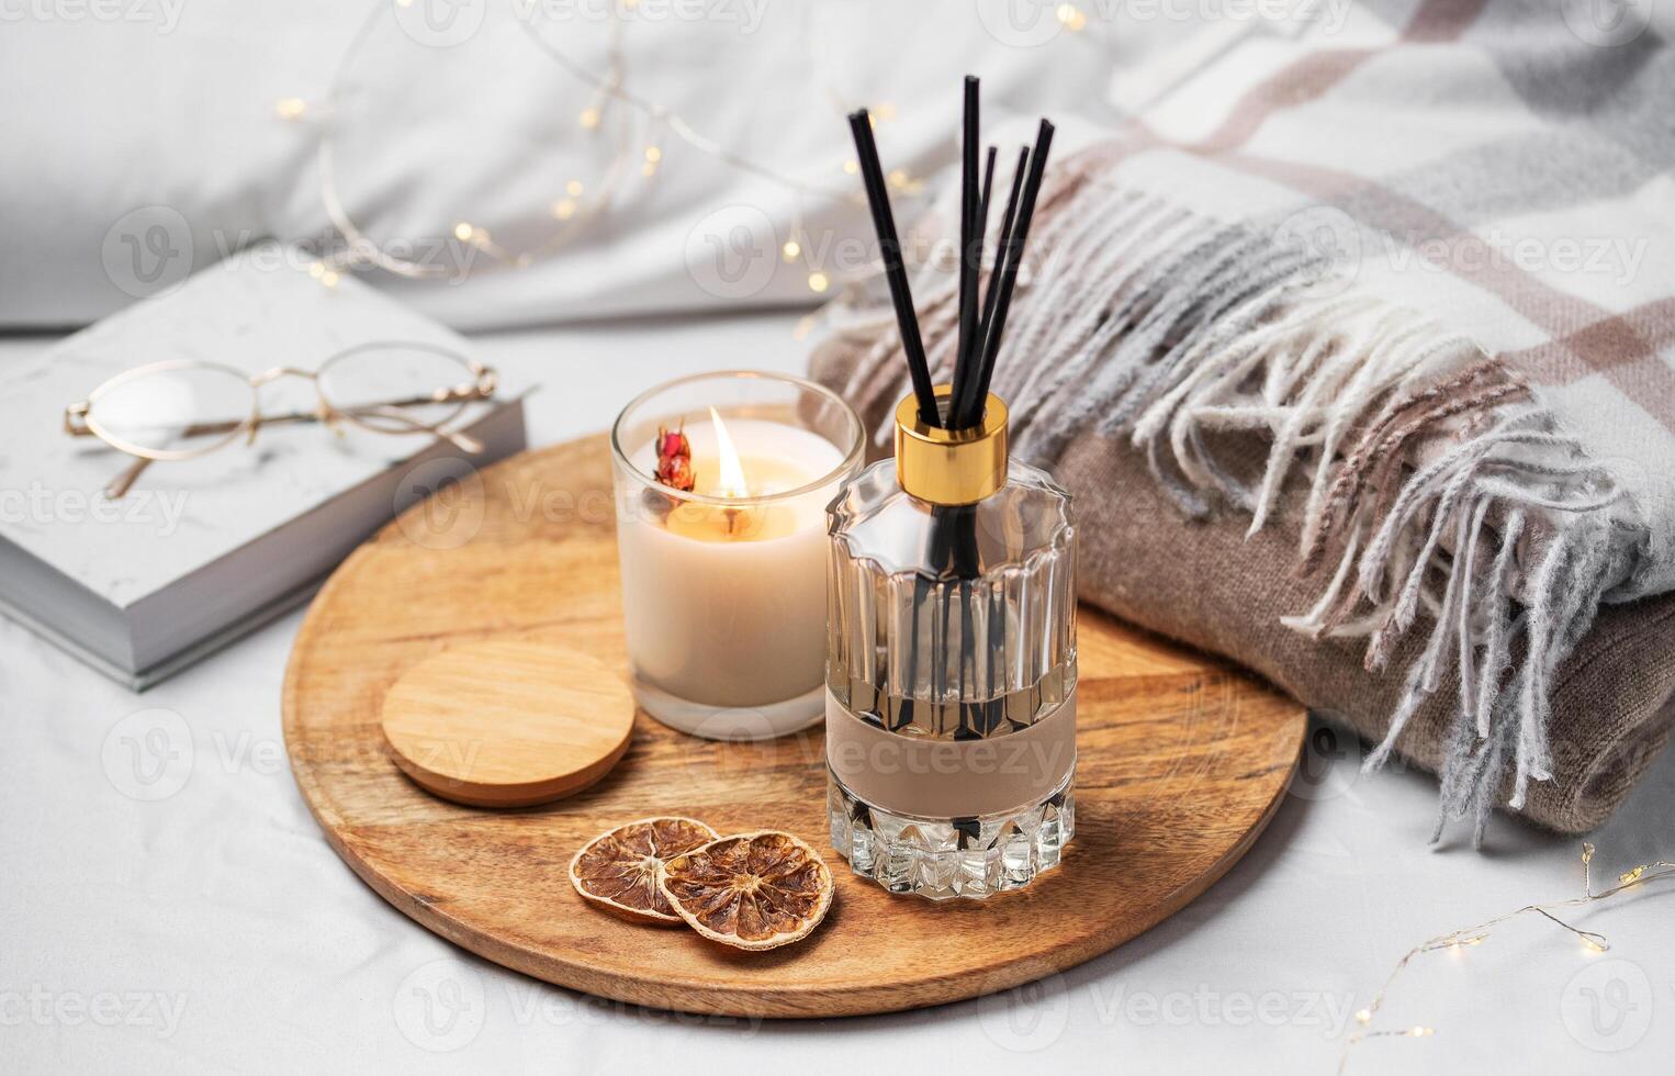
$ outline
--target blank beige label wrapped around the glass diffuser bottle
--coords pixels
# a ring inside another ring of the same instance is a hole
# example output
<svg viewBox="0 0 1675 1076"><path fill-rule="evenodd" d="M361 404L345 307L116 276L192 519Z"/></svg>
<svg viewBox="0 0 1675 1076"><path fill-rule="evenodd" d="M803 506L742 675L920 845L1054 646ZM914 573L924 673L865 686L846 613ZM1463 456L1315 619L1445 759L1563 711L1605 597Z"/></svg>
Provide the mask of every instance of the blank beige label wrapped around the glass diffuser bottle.
<svg viewBox="0 0 1675 1076"><path fill-rule="evenodd" d="M851 793L898 815L965 818L1032 806L1075 769L1075 691L1027 729L970 741L886 732L827 691L826 764Z"/></svg>

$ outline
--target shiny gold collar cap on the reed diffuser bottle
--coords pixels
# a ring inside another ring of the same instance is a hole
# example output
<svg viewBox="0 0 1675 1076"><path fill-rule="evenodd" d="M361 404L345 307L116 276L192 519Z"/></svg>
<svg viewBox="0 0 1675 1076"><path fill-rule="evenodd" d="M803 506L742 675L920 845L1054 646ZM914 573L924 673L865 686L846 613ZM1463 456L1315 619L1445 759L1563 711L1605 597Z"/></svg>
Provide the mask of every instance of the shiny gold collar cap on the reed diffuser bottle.
<svg viewBox="0 0 1675 1076"><path fill-rule="evenodd" d="M936 385L936 399L953 385ZM896 406L896 481L931 504L975 504L1007 484L1007 404L988 394L983 421L938 429L920 421L913 396Z"/></svg>

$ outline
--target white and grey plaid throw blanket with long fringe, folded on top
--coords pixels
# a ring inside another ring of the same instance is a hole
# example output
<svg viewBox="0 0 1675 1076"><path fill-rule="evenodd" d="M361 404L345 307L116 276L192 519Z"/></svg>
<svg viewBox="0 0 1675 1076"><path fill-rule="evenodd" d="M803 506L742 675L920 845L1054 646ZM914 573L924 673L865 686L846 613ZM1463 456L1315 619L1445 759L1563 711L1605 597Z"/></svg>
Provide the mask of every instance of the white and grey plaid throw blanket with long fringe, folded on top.
<svg viewBox="0 0 1675 1076"><path fill-rule="evenodd" d="M1439 833L1481 838L1496 803L1596 776L1610 744L1554 758L1556 677L1601 605L1675 588L1675 54L1635 8L1399 7L1246 42L1057 166L995 387L1028 458L1121 441L1176 506L1136 541L1223 511L1283 528L1310 600L1266 620L1394 682L1362 692L1375 717L1300 692L1350 711L1370 766L1437 768ZM916 298L946 375L951 280ZM876 412L899 342L856 340L817 372ZM1621 704L1662 746L1675 685L1647 675Z"/></svg>

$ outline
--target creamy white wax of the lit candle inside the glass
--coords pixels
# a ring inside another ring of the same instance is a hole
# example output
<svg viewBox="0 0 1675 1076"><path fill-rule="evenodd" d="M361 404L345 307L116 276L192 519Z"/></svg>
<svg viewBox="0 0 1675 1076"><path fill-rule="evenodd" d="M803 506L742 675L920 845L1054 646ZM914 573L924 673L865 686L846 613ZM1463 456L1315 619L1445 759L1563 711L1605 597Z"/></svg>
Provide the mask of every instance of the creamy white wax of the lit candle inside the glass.
<svg viewBox="0 0 1675 1076"><path fill-rule="evenodd" d="M725 419L749 496L665 510L653 493L620 504L628 655L640 679L685 702L762 707L816 691L826 667L826 504L838 478L794 498L757 501L831 474L843 453L806 429ZM688 422L697 493L715 489L710 422ZM655 442L631 456L657 469ZM650 503L648 503L650 501Z"/></svg>

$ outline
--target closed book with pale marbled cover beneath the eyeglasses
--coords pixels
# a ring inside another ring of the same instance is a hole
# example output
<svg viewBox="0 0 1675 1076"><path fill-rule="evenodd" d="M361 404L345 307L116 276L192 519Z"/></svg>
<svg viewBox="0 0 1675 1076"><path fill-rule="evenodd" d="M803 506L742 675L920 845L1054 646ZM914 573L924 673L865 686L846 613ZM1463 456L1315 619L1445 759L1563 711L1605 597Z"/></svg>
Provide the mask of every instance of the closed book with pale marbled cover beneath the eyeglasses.
<svg viewBox="0 0 1675 1076"><path fill-rule="evenodd" d="M265 424L204 456L156 461L109 498L134 458L65 431L67 406L139 365L310 372L375 342L472 355L452 330L266 245L0 367L0 612L142 691L305 602L399 510L524 447L523 401L501 387L446 424L481 453L425 431ZM263 414L312 414L318 385L281 375L256 394ZM198 406L226 409L228 397ZM228 417L240 416L204 421Z"/></svg>

